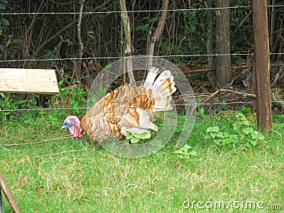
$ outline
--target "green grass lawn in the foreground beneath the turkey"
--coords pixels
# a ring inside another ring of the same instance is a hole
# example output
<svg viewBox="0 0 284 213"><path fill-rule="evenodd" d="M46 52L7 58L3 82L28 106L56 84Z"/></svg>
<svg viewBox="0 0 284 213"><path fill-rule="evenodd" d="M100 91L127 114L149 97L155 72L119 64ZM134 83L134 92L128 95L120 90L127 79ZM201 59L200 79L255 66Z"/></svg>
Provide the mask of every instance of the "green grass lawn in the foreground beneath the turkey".
<svg viewBox="0 0 284 213"><path fill-rule="evenodd" d="M34 118L32 125L21 124L25 118L1 122L0 170L22 212L240 212L232 204L220 210L205 203L241 201L241 193L256 204L262 201L263 208L284 209L283 124L275 124L256 147L219 148L205 141L204 133L229 121L197 120L187 141L197 151L190 160L174 154L175 138L154 155L127 159L87 136L44 141L66 135L60 131L64 117L46 117ZM6 146L13 143L28 144ZM204 202L204 209L196 203L183 208L189 199ZM5 199L4 209L11 212ZM261 211L266 212L249 209Z"/></svg>

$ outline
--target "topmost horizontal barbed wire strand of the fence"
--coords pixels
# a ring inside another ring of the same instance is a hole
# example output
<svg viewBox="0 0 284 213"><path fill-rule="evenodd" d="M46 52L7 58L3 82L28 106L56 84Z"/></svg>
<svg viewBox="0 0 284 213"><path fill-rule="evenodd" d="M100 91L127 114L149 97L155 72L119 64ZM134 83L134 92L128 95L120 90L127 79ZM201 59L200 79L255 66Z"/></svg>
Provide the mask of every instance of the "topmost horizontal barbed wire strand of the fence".
<svg viewBox="0 0 284 213"><path fill-rule="evenodd" d="M267 7L283 7L284 5L268 5ZM195 9L156 9L156 10L133 10L133 11L89 11L89 12L25 12L25 13L1 13L1 15L17 16L17 15L58 15L58 14L111 14L111 13L141 13L141 12L183 12L183 11L209 11L209 10L222 10L222 9L250 9L251 6L226 6L226 7L213 7L213 8L195 8Z"/></svg>

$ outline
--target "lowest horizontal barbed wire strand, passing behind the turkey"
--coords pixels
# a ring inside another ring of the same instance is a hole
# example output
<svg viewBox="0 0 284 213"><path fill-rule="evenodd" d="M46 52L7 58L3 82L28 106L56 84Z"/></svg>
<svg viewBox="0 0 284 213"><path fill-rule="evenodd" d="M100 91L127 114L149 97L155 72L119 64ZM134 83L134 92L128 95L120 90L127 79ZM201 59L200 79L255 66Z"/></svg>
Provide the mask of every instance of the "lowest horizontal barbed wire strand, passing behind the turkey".
<svg viewBox="0 0 284 213"><path fill-rule="evenodd" d="M284 101L271 101L271 103L284 104ZM253 102L212 102L212 103L196 103L196 104L175 104L175 106L192 106L196 107L203 105L230 105L230 104L253 104ZM13 111L50 111L50 110L70 110L70 109L78 109L78 110L87 110L87 107L60 107L60 108L35 108L35 109L0 109L0 111L13 112Z"/></svg>

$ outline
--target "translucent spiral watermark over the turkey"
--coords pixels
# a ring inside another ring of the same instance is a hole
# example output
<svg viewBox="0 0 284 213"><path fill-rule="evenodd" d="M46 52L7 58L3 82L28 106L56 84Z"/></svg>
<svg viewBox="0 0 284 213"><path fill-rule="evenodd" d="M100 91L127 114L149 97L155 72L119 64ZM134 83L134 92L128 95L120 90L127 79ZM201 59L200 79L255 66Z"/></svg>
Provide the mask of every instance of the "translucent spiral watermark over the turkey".
<svg viewBox="0 0 284 213"><path fill-rule="evenodd" d="M131 60L132 63L132 70L127 70L125 67L129 60ZM151 67L149 67L149 60L151 60ZM175 144L176 147L180 148L186 143L187 138L190 137L190 133L195 124L195 96L187 77L185 77L177 66L168 60L155 56L135 55L131 58L121 58L120 60L112 62L99 72L94 79L94 82L89 89L87 108L90 109L95 102L102 99L107 93L107 90L111 87L111 84L126 72L136 70L149 71L152 67L157 68L160 73L165 70L170 70L171 75L174 77L173 81L175 82L175 87L179 91L180 97L182 97L180 102L185 106L183 109L185 123L183 124L178 142ZM143 82L136 82L136 85L140 86L142 83ZM98 141L99 144L110 153L124 158L143 158L147 155L156 153L170 141L170 138L172 138L176 129L178 116L173 100L171 101L171 106L173 107L173 110L164 112L165 121L163 127L160 127L158 135L151 141L131 144L131 146L127 146L126 141L119 140Z"/></svg>

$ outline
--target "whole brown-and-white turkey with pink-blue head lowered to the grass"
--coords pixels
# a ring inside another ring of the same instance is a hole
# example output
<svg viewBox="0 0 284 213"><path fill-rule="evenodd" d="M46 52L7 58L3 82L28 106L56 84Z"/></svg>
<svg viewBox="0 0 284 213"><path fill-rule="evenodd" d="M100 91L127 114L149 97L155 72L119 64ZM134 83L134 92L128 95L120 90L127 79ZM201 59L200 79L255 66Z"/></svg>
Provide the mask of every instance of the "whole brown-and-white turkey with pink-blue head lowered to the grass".
<svg viewBox="0 0 284 213"><path fill-rule="evenodd" d="M80 122L77 116L68 116L61 129L69 129L74 137L83 131L94 141L123 140L128 133L158 131L153 124L155 112L169 111L175 82L169 70L158 73L152 67L141 86L123 84L105 95L87 111Z"/></svg>

